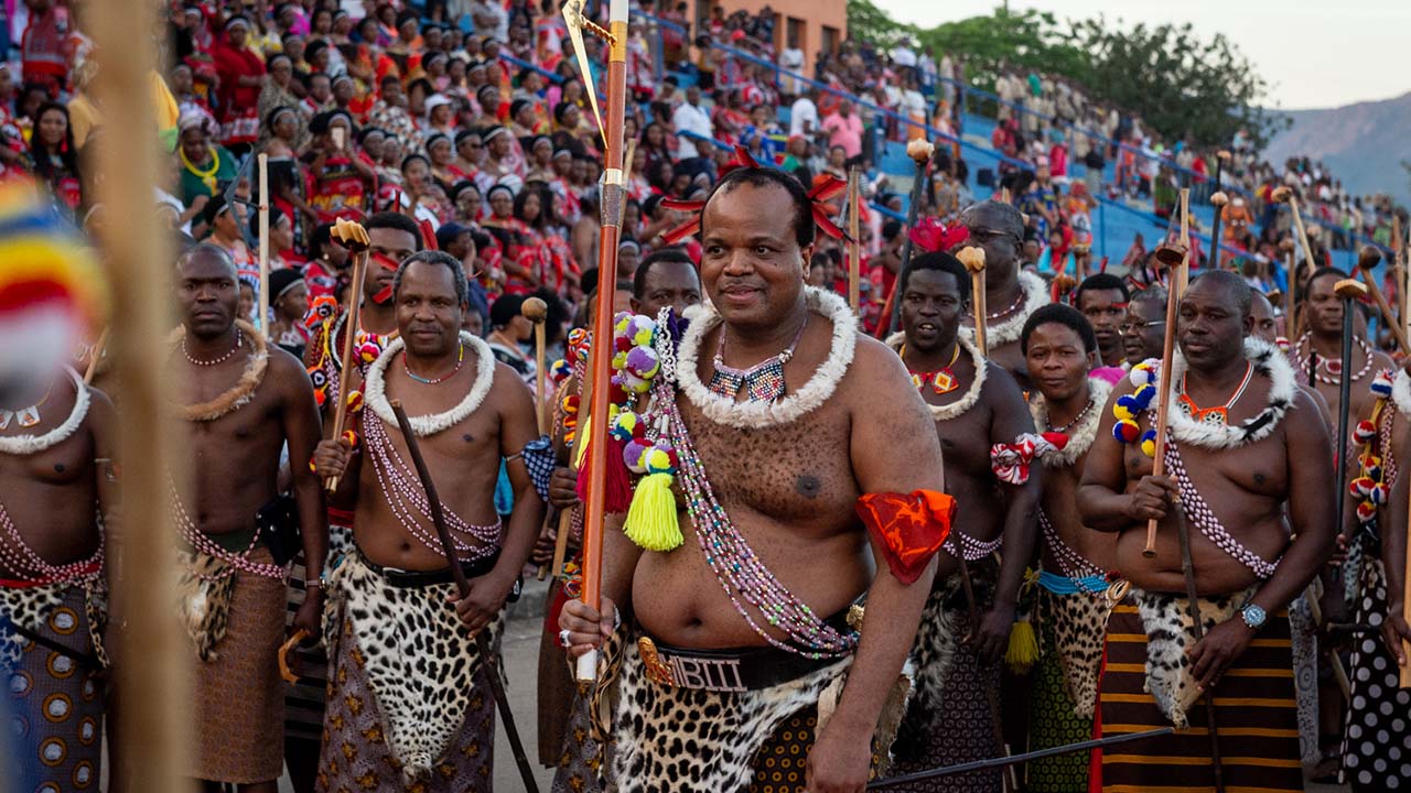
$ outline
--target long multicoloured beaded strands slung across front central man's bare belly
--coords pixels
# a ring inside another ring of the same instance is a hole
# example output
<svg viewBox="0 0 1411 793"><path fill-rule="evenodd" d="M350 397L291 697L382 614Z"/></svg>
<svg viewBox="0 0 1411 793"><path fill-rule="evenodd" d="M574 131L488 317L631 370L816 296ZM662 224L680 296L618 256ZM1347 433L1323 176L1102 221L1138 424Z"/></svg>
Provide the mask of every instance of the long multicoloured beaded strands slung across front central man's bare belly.
<svg viewBox="0 0 1411 793"><path fill-rule="evenodd" d="M674 361L673 361L674 363ZM696 526L696 540L706 555L706 563L725 591L735 611L770 645L811 659L842 658L858 646L858 635L840 632L818 619L811 608L799 600L761 562L729 519L711 488L706 467L691 436L682 420L676 405L676 392L670 378L653 381L660 435L670 440L680 461L677 481L686 495L686 509ZM773 628L783 631L787 639L780 641L761 625L749 607L753 607Z"/></svg>

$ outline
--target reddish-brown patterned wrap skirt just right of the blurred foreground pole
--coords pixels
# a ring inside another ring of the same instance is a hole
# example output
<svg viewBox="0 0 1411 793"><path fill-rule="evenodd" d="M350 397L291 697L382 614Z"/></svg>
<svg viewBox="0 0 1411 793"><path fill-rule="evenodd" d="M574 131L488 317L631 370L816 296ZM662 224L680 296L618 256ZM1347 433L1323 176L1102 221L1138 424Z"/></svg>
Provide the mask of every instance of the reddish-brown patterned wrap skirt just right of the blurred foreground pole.
<svg viewBox="0 0 1411 793"><path fill-rule="evenodd" d="M248 559L272 562L264 546ZM286 587L278 579L238 571L229 581L224 635L210 660L195 662L190 776L233 785L272 782L284 770L278 655Z"/></svg>

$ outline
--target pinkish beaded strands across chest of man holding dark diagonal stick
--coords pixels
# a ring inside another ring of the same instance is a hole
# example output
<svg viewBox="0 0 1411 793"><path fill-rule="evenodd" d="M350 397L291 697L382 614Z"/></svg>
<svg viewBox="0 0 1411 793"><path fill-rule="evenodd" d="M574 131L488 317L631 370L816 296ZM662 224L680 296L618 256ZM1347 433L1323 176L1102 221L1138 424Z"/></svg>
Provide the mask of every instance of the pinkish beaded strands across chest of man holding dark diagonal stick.
<svg viewBox="0 0 1411 793"><path fill-rule="evenodd" d="M432 522L430 501L422 488L420 478L406 467L392 439L387 435L382 419L377 415L365 415L363 420L363 436L368 454L373 457L373 470L377 473L377 485L387 500L387 507L396 516L409 535L423 546L437 553L442 552L440 538L426 529ZM442 504L446 514L446 525L452 529L452 543L456 546L456 557L463 562L484 559L499 547L504 540L504 523L495 519L494 523L477 526L467 523L459 515ZM480 542L467 542L456 536L470 535Z"/></svg>

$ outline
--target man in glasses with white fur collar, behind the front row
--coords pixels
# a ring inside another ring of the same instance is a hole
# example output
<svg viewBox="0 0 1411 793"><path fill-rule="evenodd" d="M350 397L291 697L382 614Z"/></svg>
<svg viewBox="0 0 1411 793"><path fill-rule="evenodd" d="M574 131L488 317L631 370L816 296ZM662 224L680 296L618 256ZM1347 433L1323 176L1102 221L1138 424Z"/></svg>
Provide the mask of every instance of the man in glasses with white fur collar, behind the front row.
<svg viewBox="0 0 1411 793"><path fill-rule="evenodd" d="M1048 303L1050 298L1044 279L1020 268L1024 216L1012 205L986 200L967 207L961 223L969 230L967 244L985 250L985 343L989 360L1027 387L1029 370L1019 350L1019 333L1029 315Z"/></svg>

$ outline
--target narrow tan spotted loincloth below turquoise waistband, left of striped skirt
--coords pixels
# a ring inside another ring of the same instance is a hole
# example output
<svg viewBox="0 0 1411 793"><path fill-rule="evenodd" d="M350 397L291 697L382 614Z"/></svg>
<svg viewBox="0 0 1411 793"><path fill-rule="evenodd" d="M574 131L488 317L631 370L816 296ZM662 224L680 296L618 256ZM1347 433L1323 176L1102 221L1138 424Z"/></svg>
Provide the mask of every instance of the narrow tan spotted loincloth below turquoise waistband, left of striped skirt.
<svg viewBox="0 0 1411 793"><path fill-rule="evenodd" d="M1041 590L1040 598L1043 615L1053 624L1054 646L1064 670L1064 689L1072 698L1072 713L1078 718L1092 718L1098 706L1102 645L1113 604L1105 593L1061 595Z"/></svg>

